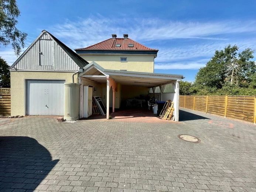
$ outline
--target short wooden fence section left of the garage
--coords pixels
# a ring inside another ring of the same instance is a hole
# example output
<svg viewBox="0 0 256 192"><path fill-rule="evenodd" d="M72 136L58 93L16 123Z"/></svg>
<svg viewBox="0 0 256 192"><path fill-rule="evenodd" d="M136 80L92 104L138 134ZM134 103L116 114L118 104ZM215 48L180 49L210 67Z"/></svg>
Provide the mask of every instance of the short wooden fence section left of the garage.
<svg viewBox="0 0 256 192"><path fill-rule="evenodd" d="M10 88L0 88L0 116L11 115Z"/></svg>

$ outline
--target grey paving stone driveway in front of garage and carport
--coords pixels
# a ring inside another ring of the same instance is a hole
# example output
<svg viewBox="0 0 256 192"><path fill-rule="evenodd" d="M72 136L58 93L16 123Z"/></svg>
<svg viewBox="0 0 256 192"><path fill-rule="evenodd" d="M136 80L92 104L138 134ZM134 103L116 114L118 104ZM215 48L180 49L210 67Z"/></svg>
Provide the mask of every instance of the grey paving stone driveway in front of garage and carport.
<svg viewBox="0 0 256 192"><path fill-rule="evenodd" d="M0 191L256 191L255 125L187 109L180 116L15 119L0 126Z"/></svg>

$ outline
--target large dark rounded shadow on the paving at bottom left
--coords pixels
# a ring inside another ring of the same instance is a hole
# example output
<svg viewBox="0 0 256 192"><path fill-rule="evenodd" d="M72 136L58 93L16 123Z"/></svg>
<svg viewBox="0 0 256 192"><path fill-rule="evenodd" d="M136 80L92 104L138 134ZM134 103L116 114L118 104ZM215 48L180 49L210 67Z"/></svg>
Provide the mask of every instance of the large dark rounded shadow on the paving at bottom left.
<svg viewBox="0 0 256 192"><path fill-rule="evenodd" d="M33 191L59 160L31 137L0 137L0 191Z"/></svg>

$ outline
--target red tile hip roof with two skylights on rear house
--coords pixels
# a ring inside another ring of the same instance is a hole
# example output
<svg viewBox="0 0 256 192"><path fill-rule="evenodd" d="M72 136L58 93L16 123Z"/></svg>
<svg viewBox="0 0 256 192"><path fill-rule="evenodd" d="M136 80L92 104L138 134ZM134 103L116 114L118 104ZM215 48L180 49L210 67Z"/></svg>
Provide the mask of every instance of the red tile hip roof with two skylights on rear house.
<svg viewBox="0 0 256 192"><path fill-rule="evenodd" d="M120 47L116 47L116 44L121 44ZM133 47L128 47L128 44L133 44ZM75 51L87 51L87 50L116 50L116 51L158 51L157 49L151 49L130 38L110 38L97 44L91 45L85 48L75 49Z"/></svg>

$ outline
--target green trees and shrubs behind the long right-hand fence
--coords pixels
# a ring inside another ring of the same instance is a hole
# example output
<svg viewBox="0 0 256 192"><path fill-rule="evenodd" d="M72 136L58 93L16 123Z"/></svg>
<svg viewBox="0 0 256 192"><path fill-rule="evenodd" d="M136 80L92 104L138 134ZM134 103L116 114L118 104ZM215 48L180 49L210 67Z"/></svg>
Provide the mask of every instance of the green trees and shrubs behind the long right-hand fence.
<svg viewBox="0 0 256 192"><path fill-rule="evenodd" d="M238 52L228 45L215 51L205 67L199 69L194 83L181 81L181 95L256 95L256 65L253 50Z"/></svg>

